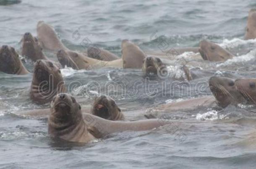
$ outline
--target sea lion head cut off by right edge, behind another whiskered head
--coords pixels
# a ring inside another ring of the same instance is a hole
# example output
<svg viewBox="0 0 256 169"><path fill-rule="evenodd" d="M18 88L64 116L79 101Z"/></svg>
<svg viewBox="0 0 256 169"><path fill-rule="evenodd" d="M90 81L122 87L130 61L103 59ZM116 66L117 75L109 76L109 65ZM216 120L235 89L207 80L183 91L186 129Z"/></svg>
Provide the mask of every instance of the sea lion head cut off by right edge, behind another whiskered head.
<svg viewBox="0 0 256 169"><path fill-rule="evenodd" d="M256 78L237 79L235 86L248 103L256 104Z"/></svg>

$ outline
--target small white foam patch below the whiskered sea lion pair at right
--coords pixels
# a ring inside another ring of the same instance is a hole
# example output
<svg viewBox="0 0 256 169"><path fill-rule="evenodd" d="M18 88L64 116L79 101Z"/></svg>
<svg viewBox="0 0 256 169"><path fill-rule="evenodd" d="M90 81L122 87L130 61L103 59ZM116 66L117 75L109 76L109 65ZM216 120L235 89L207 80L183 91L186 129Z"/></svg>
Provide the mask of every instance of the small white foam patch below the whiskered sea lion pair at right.
<svg viewBox="0 0 256 169"><path fill-rule="evenodd" d="M219 115L218 111L211 110L207 111L206 113L203 114L196 114L196 119L197 120L206 120L206 121L214 121L214 120L221 120L221 119L227 119L225 115Z"/></svg>

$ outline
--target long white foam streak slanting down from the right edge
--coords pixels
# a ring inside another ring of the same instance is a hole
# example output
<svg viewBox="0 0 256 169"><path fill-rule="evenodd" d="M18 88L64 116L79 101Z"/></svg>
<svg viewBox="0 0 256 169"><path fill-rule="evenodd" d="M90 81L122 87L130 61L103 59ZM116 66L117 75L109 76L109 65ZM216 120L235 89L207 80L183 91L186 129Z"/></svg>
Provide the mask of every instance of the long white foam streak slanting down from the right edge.
<svg viewBox="0 0 256 169"><path fill-rule="evenodd" d="M238 62L247 62L250 61L251 59L255 58L256 55L256 50L251 50L251 52L247 53L246 55L241 55L241 56L236 56L232 59L229 59L225 61L224 63L217 64L216 66L227 66L232 63L238 63Z"/></svg>

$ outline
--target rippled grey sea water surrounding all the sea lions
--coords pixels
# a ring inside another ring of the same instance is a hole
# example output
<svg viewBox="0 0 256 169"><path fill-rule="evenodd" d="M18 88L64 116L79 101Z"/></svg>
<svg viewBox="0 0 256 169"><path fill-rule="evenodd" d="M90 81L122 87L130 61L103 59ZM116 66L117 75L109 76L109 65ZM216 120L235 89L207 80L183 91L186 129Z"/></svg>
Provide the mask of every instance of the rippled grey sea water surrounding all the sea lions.
<svg viewBox="0 0 256 169"><path fill-rule="evenodd" d="M13 4L12 4L13 3ZM167 102L210 96L211 76L256 78L256 40L243 40L248 11L254 0L0 0L0 45L20 49L24 33L36 35L44 20L52 25L71 50L89 45L121 56L120 43L129 39L144 51L196 47L207 39L237 57L224 63L191 66L193 81L149 81L141 70L103 68L92 71L61 70L68 92L81 105L97 94L115 98L127 120L145 119L149 108ZM57 60L52 53L46 53ZM190 59L188 55L183 55ZM25 63L32 71L33 63ZM170 67L179 76L178 70ZM56 142L47 135L47 119L19 116L23 110L45 108L29 99L32 74L0 73L0 168L255 168L256 114L254 106L228 106L223 110L159 112L157 118L180 122L151 131L112 134L89 144ZM76 85L71 85L74 84ZM86 88L97 82L99 88ZM125 83L123 90L106 83ZM132 88L140 82L136 93ZM177 83L173 88L164 88ZM89 91L89 92L88 92Z"/></svg>

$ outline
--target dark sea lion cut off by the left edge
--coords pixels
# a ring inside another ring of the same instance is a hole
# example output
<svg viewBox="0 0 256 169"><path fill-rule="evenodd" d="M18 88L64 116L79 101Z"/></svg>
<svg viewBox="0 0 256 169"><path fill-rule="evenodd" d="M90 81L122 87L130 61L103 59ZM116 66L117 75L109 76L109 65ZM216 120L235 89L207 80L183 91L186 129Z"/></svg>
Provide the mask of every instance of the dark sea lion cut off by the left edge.
<svg viewBox="0 0 256 169"><path fill-rule="evenodd" d="M0 48L0 71L17 75L25 75L29 73L19 59L16 50L8 45L3 45Z"/></svg>

